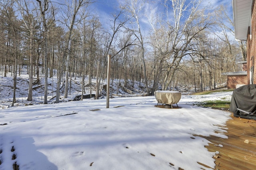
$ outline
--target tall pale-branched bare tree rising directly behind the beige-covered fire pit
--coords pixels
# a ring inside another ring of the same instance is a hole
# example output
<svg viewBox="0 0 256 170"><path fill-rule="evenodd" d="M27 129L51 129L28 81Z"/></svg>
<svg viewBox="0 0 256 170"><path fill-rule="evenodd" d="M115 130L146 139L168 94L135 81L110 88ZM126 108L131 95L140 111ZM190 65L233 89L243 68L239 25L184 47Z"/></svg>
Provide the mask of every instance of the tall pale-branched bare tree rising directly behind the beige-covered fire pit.
<svg viewBox="0 0 256 170"><path fill-rule="evenodd" d="M166 40L165 46L159 48L161 54L167 57L163 90L167 90L179 68L183 57L190 53L191 41L200 32L214 24L210 13L200 6L201 0L171 0L165 2L166 7ZM171 15L169 11L173 12ZM173 17L173 18L170 18ZM164 20L162 20L164 21ZM161 47L158 45L158 47Z"/></svg>

